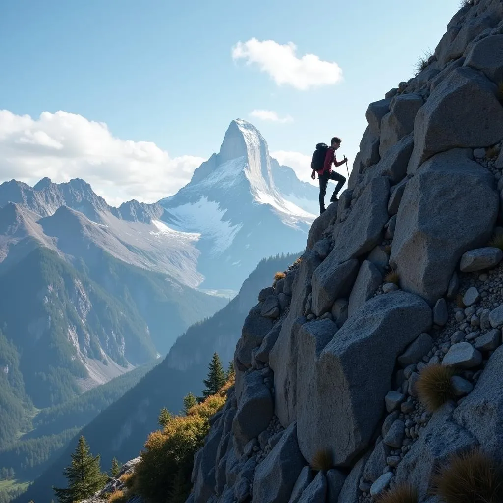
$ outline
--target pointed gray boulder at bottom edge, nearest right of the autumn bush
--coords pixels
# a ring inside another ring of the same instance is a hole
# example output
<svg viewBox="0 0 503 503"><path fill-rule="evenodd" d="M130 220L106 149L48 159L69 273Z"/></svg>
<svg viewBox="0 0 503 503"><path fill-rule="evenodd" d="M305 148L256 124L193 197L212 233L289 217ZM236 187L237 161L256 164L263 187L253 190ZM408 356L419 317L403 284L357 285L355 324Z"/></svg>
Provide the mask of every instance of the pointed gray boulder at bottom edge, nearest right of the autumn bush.
<svg viewBox="0 0 503 503"><path fill-rule="evenodd" d="M294 422L257 467L253 490L254 503L288 501L304 465L305 460L297 443L297 425Z"/></svg>

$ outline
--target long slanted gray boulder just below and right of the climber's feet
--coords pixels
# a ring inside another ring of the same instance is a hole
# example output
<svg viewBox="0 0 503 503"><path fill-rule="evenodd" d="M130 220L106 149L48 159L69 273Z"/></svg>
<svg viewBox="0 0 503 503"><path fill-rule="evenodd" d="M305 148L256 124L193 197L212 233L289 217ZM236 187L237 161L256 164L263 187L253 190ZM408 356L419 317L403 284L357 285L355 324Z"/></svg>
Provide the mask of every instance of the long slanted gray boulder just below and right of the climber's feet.
<svg viewBox="0 0 503 503"><path fill-rule="evenodd" d="M358 258L382 240L382 229L388 221L389 181L378 177L365 188L353 210L342 224L334 228L334 246L325 260L342 264Z"/></svg>

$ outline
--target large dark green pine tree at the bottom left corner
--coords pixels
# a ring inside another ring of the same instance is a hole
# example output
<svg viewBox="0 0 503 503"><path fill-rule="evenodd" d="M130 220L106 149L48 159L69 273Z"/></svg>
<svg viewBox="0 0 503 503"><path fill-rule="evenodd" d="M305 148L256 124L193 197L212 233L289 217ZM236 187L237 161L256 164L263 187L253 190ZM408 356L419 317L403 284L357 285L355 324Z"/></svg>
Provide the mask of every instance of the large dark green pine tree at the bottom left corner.
<svg viewBox="0 0 503 503"><path fill-rule="evenodd" d="M75 452L71 455L71 464L63 470L68 480L68 487L60 489L53 487L59 503L72 503L92 496L102 489L107 481L107 475L101 472L100 455L91 454L86 439L78 439Z"/></svg>

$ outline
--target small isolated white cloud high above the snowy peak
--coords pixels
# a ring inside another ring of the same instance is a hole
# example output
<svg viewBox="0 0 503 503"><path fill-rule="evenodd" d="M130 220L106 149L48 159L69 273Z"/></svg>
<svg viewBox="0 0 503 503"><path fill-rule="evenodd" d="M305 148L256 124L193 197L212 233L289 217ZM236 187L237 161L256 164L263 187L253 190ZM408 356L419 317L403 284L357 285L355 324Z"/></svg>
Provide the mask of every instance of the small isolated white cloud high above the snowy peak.
<svg viewBox="0 0 503 503"><path fill-rule="evenodd" d="M296 56L293 42L281 45L274 40L251 38L232 48L232 59L244 59L247 65L257 64L278 86L288 84L301 91L319 86L331 86L343 78L341 67L335 62L321 61L315 54Z"/></svg>

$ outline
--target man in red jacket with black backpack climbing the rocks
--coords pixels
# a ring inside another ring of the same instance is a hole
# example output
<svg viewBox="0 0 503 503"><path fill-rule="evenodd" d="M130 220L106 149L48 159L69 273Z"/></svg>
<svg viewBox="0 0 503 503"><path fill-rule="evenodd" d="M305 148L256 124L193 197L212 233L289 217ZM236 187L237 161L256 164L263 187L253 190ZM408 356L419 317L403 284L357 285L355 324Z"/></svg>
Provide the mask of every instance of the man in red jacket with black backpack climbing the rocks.
<svg viewBox="0 0 503 503"><path fill-rule="evenodd" d="M313 154L313 161L311 162L311 168L313 170L311 178L316 179L316 173L318 173L319 180L319 213L320 215L325 211L325 194L326 186L328 185L328 180L334 180L337 182L336 188L330 197L330 202L334 203L339 201L337 195L341 190L342 186L346 183L346 177L340 175L339 173L332 171L331 165L336 167L342 166L348 161L346 157L340 162L337 161L336 150L341 146L341 138L334 136L330 140L330 146L327 147L324 143L318 143L316 145L316 150ZM326 153L324 153L326 152ZM324 157L323 157L324 153ZM321 164L321 159L323 159Z"/></svg>

